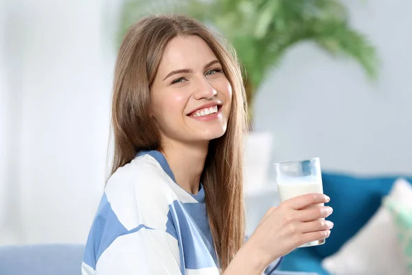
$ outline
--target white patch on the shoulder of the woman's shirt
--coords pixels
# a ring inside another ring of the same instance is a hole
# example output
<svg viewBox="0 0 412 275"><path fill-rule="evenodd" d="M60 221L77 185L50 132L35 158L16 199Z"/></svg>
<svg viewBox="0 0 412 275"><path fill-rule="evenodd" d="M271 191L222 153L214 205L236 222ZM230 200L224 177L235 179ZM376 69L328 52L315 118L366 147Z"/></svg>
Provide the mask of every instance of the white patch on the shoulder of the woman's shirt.
<svg viewBox="0 0 412 275"><path fill-rule="evenodd" d="M177 197L163 174L159 163L145 155L119 168L108 181L107 199L127 230L140 224L166 230L169 204Z"/></svg>

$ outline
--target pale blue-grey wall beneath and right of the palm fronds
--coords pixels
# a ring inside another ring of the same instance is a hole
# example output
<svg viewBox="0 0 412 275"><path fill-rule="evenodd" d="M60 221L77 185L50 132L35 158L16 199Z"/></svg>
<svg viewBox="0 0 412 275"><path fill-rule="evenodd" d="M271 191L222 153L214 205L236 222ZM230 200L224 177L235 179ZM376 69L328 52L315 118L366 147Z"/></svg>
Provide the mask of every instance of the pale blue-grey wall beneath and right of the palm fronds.
<svg viewBox="0 0 412 275"><path fill-rule="evenodd" d="M378 47L379 80L312 43L297 45L262 86L255 129L275 135L273 161L319 156L323 170L412 175L412 2L345 3Z"/></svg>

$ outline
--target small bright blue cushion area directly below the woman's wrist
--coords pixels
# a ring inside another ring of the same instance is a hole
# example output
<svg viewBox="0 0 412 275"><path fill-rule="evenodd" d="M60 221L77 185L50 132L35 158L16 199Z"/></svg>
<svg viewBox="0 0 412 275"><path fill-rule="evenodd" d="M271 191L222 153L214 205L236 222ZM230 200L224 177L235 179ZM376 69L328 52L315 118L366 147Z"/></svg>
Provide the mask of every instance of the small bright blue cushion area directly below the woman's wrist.
<svg viewBox="0 0 412 275"><path fill-rule="evenodd" d="M319 256L310 252L308 248L297 248L290 252L280 264L279 270L293 272L317 272L319 275L330 275L323 270Z"/></svg>

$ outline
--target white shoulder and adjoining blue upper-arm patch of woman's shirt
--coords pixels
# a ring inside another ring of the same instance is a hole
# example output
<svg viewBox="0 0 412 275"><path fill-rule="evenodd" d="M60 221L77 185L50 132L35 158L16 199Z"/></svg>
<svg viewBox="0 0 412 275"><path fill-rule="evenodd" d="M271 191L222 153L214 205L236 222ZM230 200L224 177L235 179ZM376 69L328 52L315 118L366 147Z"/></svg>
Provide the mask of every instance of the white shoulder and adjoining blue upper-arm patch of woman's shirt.
<svg viewBox="0 0 412 275"><path fill-rule="evenodd" d="M163 173L149 156L136 157L113 173L95 214L84 263L95 267L95 256L102 255L115 239L142 228L172 232L168 214L174 193Z"/></svg>

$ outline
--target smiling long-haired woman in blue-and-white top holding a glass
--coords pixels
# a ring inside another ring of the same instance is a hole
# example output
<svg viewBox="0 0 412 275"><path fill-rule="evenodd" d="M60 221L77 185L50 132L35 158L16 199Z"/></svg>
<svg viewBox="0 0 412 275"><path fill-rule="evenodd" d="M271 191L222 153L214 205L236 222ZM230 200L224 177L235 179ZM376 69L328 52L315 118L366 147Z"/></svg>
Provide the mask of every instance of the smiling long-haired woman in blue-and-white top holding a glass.
<svg viewBox="0 0 412 275"><path fill-rule="evenodd" d="M309 241L328 197L268 210L244 242L242 73L201 23L146 17L120 47L112 126L115 153L82 274L262 274Z"/></svg>

